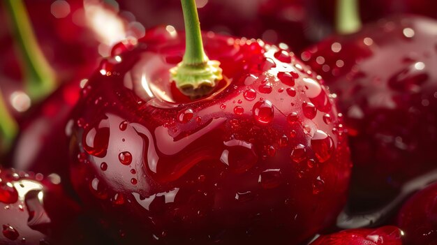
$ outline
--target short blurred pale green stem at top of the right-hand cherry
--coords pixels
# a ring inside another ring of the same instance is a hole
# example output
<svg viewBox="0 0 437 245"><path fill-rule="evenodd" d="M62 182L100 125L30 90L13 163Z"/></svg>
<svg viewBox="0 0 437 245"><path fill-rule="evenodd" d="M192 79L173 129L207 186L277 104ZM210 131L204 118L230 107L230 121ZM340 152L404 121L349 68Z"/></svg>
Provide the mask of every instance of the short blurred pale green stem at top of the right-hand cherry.
<svg viewBox="0 0 437 245"><path fill-rule="evenodd" d="M361 29L358 0L337 0L336 31L338 34L353 34Z"/></svg>

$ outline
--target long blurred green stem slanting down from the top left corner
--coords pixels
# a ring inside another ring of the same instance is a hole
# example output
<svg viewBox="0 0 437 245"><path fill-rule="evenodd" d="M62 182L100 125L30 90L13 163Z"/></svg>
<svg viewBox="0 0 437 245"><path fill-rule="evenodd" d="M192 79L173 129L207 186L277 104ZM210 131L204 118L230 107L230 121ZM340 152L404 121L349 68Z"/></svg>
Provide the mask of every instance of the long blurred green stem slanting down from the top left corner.
<svg viewBox="0 0 437 245"><path fill-rule="evenodd" d="M40 50L23 1L4 0L4 3L22 57L26 92L32 101L40 101L56 88L54 70Z"/></svg>

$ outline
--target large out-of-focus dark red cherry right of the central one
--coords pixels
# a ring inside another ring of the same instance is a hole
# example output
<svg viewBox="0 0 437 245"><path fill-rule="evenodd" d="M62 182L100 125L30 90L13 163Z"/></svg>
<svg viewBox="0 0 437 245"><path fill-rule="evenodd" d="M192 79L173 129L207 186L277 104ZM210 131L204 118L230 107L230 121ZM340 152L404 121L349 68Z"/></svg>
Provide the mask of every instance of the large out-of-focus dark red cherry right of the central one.
<svg viewBox="0 0 437 245"><path fill-rule="evenodd" d="M436 168L436 29L426 17L390 17L302 53L339 98L355 207L376 207Z"/></svg>

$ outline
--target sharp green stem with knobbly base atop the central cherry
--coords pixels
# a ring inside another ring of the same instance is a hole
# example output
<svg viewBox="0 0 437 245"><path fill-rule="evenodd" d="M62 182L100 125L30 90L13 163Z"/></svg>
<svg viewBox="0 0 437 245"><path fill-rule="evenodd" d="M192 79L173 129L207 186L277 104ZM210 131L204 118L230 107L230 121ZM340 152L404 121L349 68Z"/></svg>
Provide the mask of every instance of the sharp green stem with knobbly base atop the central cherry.
<svg viewBox="0 0 437 245"><path fill-rule="evenodd" d="M13 1L13 0L12 0ZM205 54L195 0L181 0L184 11L186 48L182 62L170 69L176 87L186 96L199 98L209 94L223 79L220 62Z"/></svg>

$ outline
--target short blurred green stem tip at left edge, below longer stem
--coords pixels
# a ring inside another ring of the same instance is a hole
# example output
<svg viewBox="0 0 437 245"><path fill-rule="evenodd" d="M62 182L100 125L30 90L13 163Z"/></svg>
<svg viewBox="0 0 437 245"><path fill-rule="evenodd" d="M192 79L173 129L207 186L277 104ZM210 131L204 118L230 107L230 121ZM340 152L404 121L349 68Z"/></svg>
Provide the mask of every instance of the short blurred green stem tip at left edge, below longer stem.
<svg viewBox="0 0 437 245"><path fill-rule="evenodd" d="M10 149L17 133L18 125L10 115L0 90L0 154Z"/></svg>

